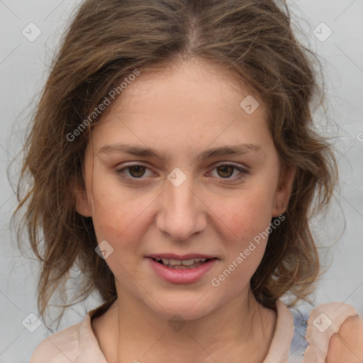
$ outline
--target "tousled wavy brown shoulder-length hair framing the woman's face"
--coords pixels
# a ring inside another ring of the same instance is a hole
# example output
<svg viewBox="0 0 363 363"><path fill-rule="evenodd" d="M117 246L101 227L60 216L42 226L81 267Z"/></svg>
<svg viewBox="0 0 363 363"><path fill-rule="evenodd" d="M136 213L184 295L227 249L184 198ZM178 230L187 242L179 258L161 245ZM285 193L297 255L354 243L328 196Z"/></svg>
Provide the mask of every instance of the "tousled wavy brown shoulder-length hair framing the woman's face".
<svg viewBox="0 0 363 363"><path fill-rule="evenodd" d="M62 38L35 108L23 149L18 208L41 262L38 308L62 296L76 269L77 294L63 297L63 311L93 291L116 298L108 265L94 252L91 218L75 210L74 189L83 186L82 165L92 122L82 124L124 77L200 58L233 71L268 108L269 128L284 169L297 169L283 223L269 235L252 277L259 303L274 308L286 293L308 301L320 269L309 218L333 193L337 167L327 140L313 132L313 106L323 104L317 57L291 31L289 9L272 0L86 0ZM122 97L122 94L121 94ZM21 191L26 190L23 194ZM19 240L21 238L19 237Z"/></svg>

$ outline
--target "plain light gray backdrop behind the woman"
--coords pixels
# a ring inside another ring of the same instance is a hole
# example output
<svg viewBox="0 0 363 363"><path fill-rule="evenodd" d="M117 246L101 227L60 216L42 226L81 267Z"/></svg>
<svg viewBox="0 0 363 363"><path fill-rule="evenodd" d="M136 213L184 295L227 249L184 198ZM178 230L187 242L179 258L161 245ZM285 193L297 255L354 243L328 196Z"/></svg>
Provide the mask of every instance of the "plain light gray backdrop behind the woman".
<svg viewBox="0 0 363 363"><path fill-rule="evenodd" d="M296 26L305 34L301 40L318 52L324 65L329 118L327 121L320 113L316 118L318 128L335 137L340 164L340 188L335 193L332 207L324 220L320 218L312 223L323 262L330 265L320 280L314 304L346 302L363 314L363 1L287 2ZM24 319L33 323L34 317L28 315L38 313L36 280L39 264L21 257L14 247L9 218L16 198L6 169L21 146L34 97L48 74L52 49L78 3L0 0L1 363L28 362L38 343L45 335L50 335L43 324L30 333L22 323ZM22 33L30 22L41 30L41 35L34 41ZM324 41L321 40L329 34L329 29L321 25L322 22L333 32ZM320 40L314 35L315 28ZM13 182L18 175L17 163L14 162L11 169ZM98 305L99 301L93 298L82 306L69 309L58 330L78 323L86 310Z"/></svg>

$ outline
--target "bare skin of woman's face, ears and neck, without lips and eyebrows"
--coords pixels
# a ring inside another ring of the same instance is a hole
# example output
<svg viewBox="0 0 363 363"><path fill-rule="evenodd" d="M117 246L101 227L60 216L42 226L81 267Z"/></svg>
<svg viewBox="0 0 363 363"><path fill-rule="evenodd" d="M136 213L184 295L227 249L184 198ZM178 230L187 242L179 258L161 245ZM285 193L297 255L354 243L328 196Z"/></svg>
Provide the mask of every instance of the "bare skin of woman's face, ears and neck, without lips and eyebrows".
<svg viewBox="0 0 363 363"><path fill-rule="evenodd" d="M161 73L145 72L94 128L84 162L85 191L77 211L91 216L99 242L113 253L106 263L116 278L118 300L92 328L107 362L262 362L276 313L250 291L267 240L220 286L211 284L243 252L272 217L284 213L294 169L279 183L279 157L267 127L267 108L247 114L240 102L250 95L233 84L233 74L201 60L182 62ZM105 145L152 147L164 157L101 152ZM244 155L196 157L206 149L253 144ZM218 162L247 169L221 169ZM145 174L117 169L141 164ZM167 176L178 167L186 180ZM132 174L130 174L132 173ZM142 178L133 178L143 174ZM133 178L133 179L132 179ZM133 182L131 182L133 181ZM193 284L171 284L153 272L145 256L190 252L218 257ZM168 324L181 315L184 327Z"/></svg>

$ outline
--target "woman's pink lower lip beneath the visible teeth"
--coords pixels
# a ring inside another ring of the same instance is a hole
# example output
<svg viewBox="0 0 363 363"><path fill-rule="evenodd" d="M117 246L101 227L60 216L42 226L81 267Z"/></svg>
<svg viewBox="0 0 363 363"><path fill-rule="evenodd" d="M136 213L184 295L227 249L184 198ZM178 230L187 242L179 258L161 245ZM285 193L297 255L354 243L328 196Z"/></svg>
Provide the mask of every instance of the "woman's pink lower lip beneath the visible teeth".
<svg viewBox="0 0 363 363"><path fill-rule="evenodd" d="M191 284L199 281L217 262L217 259L213 258L193 269L170 269L150 257L147 259L157 275L172 284Z"/></svg>

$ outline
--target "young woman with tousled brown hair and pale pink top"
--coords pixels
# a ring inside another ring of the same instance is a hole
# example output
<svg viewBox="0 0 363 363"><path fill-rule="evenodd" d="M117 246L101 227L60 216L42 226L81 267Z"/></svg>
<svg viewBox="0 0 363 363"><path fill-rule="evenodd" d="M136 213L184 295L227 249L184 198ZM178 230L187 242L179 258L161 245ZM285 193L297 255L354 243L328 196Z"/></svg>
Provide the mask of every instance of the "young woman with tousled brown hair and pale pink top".
<svg viewBox="0 0 363 363"><path fill-rule="evenodd" d="M43 262L40 315L74 269L74 298L104 304L31 363L296 359L281 298L313 291L309 218L337 175L312 128L313 57L285 5L80 6L37 106L18 211ZM313 309L305 339L303 362L363 360L347 304Z"/></svg>

